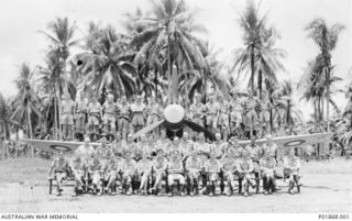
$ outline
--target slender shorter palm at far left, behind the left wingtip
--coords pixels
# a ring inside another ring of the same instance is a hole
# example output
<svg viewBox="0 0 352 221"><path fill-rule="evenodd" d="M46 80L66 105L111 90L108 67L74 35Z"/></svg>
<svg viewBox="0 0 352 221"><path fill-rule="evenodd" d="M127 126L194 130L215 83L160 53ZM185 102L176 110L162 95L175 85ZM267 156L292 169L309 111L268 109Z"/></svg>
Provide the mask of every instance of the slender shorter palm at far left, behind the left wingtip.
<svg viewBox="0 0 352 221"><path fill-rule="evenodd" d="M32 88L33 71L26 64L20 67L20 76L15 79L15 86L19 90L13 104L15 107L11 118L20 125L25 125L28 137L33 139L33 125L41 118L38 111L40 99ZM32 155L34 154L32 150Z"/></svg>

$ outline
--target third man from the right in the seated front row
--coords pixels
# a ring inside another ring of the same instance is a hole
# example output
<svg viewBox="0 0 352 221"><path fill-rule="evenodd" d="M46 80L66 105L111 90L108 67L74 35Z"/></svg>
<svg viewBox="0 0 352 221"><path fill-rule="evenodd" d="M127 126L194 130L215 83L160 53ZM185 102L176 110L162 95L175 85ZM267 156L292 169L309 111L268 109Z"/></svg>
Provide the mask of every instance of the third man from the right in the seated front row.
<svg viewBox="0 0 352 221"><path fill-rule="evenodd" d="M250 191L250 185L255 188L255 181L252 178L253 173L253 162L251 158L251 153L246 150L242 152L242 158L237 161L237 169L239 173L239 179L243 180L242 185L244 187L243 196L248 197Z"/></svg>

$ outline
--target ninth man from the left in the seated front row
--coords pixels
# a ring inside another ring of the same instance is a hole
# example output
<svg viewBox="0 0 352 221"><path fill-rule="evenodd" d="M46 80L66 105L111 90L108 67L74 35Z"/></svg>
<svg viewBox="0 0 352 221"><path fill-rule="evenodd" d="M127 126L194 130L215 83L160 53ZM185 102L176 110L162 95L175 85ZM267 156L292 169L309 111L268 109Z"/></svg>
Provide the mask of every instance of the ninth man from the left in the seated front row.
<svg viewBox="0 0 352 221"><path fill-rule="evenodd" d="M190 196L195 196L198 192L198 184L200 179L200 172L202 169L202 163L197 155L197 151L191 151L190 156L186 159L186 170L190 183Z"/></svg>

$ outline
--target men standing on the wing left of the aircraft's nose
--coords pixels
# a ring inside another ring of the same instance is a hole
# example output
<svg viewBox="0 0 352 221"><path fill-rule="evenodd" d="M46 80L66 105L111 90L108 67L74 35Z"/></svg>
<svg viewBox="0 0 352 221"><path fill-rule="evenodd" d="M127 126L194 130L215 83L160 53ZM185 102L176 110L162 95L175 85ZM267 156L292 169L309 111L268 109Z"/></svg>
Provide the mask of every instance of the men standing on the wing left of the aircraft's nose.
<svg viewBox="0 0 352 221"><path fill-rule="evenodd" d="M151 124L161 117L161 106L151 99L148 106L136 97L133 103L122 97L114 102L111 93L107 96L106 102L101 104L96 96L88 102L81 95L74 102L69 95L62 101L62 134L63 140L82 140L85 134L97 141L102 133L109 139L116 133L127 135L130 132L141 130L145 123Z"/></svg>

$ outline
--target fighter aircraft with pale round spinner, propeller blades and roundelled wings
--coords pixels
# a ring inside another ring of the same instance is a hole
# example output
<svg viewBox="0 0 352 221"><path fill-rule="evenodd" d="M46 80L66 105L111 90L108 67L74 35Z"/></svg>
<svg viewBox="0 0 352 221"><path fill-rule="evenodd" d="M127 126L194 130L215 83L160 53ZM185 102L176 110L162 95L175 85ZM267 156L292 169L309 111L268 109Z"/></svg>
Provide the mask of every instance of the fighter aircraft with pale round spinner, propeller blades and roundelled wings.
<svg viewBox="0 0 352 221"><path fill-rule="evenodd" d="M207 137L215 140L215 134L205 129L204 126L193 122L190 119L185 117L185 109L179 104L169 104L164 109L164 118L153 124L150 124L142 129L141 131L132 134L133 139L146 134L157 126L163 125L167 130L176 133L177 131L183 130L185 126L189 126L191 130L197 132L204 132ZM330 140L331 133L318 133L318 134L304 134L304 135L294 135L294 136L279 136L274 137L275 142L279 148L289 148L289 147L302 147L309 144L316 143L328 143ZM82 142L70 142L70 141L46 141L46 140L25 140L28 144L35 146L36 148L48 152L57 153L58 151L64 151L66 153L74 153L78 146L82 145ZM251 141L240 141L240 145L248 145ZM262 144L265 142L265 139L256 141L256 144ZM99 143L91 143L94 147L99 146Z"/></svg>

